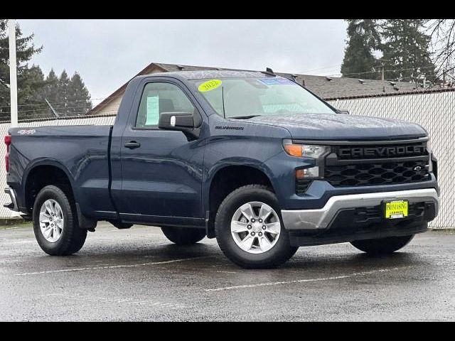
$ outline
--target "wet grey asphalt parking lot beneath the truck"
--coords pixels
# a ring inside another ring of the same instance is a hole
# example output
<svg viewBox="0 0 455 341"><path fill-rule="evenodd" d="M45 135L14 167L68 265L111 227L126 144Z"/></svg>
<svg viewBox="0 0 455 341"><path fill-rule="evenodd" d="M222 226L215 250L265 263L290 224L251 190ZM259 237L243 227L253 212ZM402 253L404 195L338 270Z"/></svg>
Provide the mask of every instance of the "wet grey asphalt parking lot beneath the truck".
<svg viewBox="0 0 455 341"><path fill-rule="evenodd" d="M67 257L2 227L0 320L455 320L454 253L454 232L427 232L392 256L302 247L244 270L215 239L177 247L156 227L99 224Z"/></svg>

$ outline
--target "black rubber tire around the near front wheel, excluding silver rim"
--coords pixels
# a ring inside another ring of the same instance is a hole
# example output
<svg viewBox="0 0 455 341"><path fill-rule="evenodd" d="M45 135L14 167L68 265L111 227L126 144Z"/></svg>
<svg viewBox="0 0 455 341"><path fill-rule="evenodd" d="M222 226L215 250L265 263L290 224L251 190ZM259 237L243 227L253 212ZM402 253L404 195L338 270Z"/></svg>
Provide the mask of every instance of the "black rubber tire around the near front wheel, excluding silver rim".
<svg viewBox="0 0 455 341"><path fill-rule="evenodd" d="M247 202L264 202L277 212L282 231L279 239L272 249L262 254L251 254L241 249L235 243L230 232L230 222L235 211ZM223 253L235 264L245 269L271 269L275 268L294 256L298 247L291 247L289 234L284 229L281 211L277 197L272 190L264 185L246 185L230 193L218 208L215 217L215 235L218 245Z"/></svg>

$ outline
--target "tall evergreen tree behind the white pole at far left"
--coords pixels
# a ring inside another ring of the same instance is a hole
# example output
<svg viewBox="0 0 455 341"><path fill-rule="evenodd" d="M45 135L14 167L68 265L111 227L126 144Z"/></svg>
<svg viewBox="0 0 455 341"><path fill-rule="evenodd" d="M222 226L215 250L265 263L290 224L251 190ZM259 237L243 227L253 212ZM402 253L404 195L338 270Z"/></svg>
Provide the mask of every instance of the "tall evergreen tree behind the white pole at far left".
<svg viewBox="0 0 455 341"><path fill-rule="evenodd" d="M9 40L6 19L0 19L0 117L9 119L11 112L9 94ZM18 105L30 104L36 98L36 92L41 90L43 72L38 66L28 67L28 60L41 52L42 47L33 45L33 34L23 36L21 28L16 25L16 60L18 82ZM23 107L26 108L26 107ZM33 107L27 107L32 110ZM24 111L27 109L23 109ZM31 112L28 112L31 113ZM26 112L24 112L26 114Z"/></svg>

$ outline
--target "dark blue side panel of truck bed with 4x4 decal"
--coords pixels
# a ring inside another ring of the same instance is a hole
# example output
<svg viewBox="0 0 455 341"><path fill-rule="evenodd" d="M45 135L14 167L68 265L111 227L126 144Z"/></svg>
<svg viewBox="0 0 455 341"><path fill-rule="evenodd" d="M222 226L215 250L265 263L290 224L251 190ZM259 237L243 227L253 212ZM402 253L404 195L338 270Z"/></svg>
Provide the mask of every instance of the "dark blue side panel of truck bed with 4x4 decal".
<svg viewBox="0 0 455 341"><path fill-rule="evenodd" d="M70 173L84 212L112 211L109 198L109 146L112 126L39 126L9 129L8 180L25 197L23 179L42 160ZM18 202L19 206L25 205Z"/></svg>

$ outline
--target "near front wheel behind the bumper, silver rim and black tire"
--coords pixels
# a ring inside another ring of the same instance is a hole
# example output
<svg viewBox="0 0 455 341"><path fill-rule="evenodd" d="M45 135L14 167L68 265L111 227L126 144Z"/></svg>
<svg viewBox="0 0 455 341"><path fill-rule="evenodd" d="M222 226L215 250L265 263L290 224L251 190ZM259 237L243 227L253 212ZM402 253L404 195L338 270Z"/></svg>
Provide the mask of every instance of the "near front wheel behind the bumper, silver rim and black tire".
<svg viewBox="0 0 455 341"><path fill-rule="evenodd" d="M215 217L215 235L223 253L247 269L267 269L283 264L297 247L279 214L274 193L263 185L234 190L221 203Z"/></svg>

